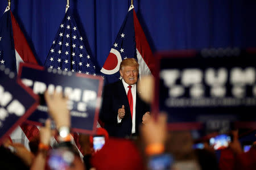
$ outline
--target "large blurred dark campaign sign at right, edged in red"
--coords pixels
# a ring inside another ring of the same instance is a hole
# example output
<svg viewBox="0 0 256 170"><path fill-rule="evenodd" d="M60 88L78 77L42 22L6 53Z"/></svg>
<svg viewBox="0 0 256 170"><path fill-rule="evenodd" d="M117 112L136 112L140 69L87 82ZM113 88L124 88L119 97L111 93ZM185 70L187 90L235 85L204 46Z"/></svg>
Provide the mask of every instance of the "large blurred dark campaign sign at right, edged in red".
<svg viewBox="0 0 256 170"><path fill-rule="evenodd" d="M193 50L159 54L155 112L168 113L172 130L214 130L230 123L256 128L255 57L205 57Z"/></svg>

